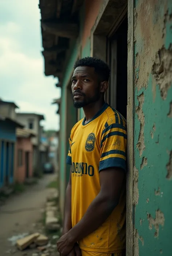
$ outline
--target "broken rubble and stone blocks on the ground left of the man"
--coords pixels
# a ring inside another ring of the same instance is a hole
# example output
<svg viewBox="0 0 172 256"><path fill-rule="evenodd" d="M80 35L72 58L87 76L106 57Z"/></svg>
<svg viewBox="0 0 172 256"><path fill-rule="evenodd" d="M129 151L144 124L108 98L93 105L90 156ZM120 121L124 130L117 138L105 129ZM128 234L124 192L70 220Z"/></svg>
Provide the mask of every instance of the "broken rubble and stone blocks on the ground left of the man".
<svg viewBox="0 0 172 256"><path fill-rule="evenodd" d="M59 223L58 207L57 207L57 191L52 193L45 204L45 229L48 231L61 232ZM37 224L32 224L36 233L22 233L9 238L12 245L16 245L16 250L22 251L24 256L55 256L58 255L56 242L60 238L56 233L52 233L50 237L42 233L42 229L37 227ZM31 231L33 232L33 231Z"/></svg>

